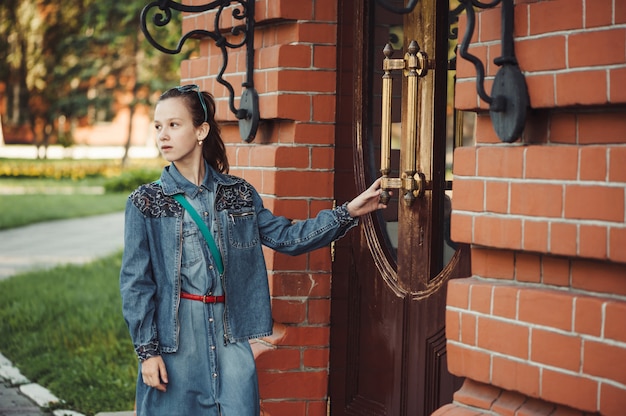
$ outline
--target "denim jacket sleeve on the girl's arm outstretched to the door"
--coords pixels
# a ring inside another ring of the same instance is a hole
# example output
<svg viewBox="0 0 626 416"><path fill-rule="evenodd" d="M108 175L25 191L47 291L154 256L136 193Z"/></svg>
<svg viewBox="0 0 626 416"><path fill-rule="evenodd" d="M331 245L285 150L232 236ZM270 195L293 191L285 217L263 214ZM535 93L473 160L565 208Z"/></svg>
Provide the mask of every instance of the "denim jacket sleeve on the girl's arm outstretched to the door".
<svg viewBox="0 0 626 416"><path fill-rule="evenodd" d="M290 255L306 253L324 247L343 237L358 224L352 218L346 204L334 209L320 211L314 218L292 221L275 216L263 207L261 197L254 193L259 232L263 244Z"/></svg>

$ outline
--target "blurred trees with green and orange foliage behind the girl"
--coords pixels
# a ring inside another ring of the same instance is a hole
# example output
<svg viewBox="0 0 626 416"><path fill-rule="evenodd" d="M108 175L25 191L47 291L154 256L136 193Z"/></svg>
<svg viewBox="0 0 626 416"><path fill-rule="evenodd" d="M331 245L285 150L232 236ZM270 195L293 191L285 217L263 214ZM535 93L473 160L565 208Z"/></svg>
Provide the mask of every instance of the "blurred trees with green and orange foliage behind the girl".
<svg viewBox="0 0 626 416"><path fill-rule="evenodd" d="M0 83L6 116L37 146L72 142L72 127L113 118L127 106L149 105L155 92L180 79L190 53L158 53L143 40L145 0L3 0L0 4ZM180 20L165 28L177 42ZM1 98L1 97L0 97ZM131 118L132 122L132 118ZM132 123L126 141L127 158Z"/></svg>

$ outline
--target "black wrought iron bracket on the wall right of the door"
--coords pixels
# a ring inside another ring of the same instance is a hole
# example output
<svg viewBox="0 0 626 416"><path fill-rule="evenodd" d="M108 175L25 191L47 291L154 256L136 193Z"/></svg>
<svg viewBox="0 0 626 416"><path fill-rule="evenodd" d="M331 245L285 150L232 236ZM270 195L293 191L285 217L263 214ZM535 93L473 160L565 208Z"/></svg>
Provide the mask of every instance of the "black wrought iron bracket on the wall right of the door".
<svg viewBox="0 0 626 416"><path fill-rule="evenodd" d="M476 68L476 91L478 96L489 104L489 115L496 134L503 142L514 142L524 131L529 98L526 80L517 63L513 46L515 17L513 0L494 0L491 3L482 3L478 0L459 0L459 2L467 12L467 27L460 44L459 55L474 64ZM493 8L500 2L502 2L502 55L494 59L494 63L500 68L496 73L491 96L489 96L485 92L483 63L467 50L476 25L474 7Z"/></svg>

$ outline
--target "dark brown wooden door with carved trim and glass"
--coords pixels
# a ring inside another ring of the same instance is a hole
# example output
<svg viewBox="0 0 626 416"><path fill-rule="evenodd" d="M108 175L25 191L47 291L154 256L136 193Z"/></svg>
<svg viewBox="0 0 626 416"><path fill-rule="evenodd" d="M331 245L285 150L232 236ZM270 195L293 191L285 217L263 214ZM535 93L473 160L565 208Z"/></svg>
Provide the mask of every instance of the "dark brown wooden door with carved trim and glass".
<svg viewBox="0 0 626 416"><path fill-rule="evenodd" d="M417 5L401 11L393 8L405 8L404 1L339 1L337 200L381 175L386 126L387 176L398 178L388 183L413 178L421 191L393 189L387 210L364 218L359 232L335 246L331 415L428 415L461 382L447 370L445 338L446 283L469 275L467 248L449 238L452 150L463 141L452 104L450 6L408 3ZM411 40L425 53L420 74L409 81L410 71L390 71L385 101L383 48L391 43L400 65Z"/></svg>

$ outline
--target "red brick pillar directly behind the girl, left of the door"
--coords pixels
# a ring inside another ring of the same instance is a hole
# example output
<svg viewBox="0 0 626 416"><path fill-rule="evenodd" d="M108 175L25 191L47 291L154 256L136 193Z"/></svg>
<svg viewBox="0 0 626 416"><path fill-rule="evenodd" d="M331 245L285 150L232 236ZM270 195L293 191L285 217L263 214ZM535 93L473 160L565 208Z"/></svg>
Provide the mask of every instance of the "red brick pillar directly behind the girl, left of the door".
<svg viewBox="0 0 626 416"><path fill-rule="evenodd" d="M182 82L199 84L216 97L231 173L250 181L275 214L306 218L333 204L337 4L255 4L254 84L261 123L254 142L242 142L232 123L227 91L216 81L222 58L213 41L202 41L199 56L183 63ZM186 17L183 33L212 30L213 17ZM232 26L226 12L221 26ZM224 78L236 97L244 74L245 48L230 50ZM264 414L326 415L330 250L297 257L265 254L275 334L253 343Z"/></svg>

